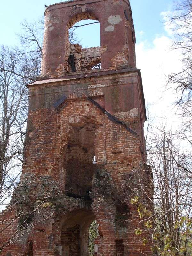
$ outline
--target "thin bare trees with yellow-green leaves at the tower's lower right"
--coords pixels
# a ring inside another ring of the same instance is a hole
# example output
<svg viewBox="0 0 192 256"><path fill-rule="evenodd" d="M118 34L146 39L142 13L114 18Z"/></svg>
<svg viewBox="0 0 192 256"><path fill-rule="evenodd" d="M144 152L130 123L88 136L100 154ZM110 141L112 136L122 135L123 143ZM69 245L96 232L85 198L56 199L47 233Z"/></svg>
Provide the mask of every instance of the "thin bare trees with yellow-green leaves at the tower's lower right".
<svg viewBox="0 0 192 256"><path fill-rule="evenodd" d="M192 156L178 141L178 137L166 126L151 126L148 134L148 164L153 171L154 212L142 197L134 196L131 204L137 206L139 224L143 229L135 230L138 236L146 230L151 232L154 255L189 256L192 241ZM140 189L146 191L148 184ZM148 197L148 202L153 200ZM147 244L148 239L140 238Z"/></svg>

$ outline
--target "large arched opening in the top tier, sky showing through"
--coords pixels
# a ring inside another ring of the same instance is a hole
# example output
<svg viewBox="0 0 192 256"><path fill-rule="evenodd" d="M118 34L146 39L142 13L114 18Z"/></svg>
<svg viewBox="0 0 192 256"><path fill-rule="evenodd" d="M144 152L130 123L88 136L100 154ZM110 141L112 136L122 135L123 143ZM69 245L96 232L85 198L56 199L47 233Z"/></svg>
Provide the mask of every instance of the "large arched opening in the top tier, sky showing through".
<svg viewBox="0 0 192 256"><path fill-rule="evenodd" d="M100 23L90 13L76 15L68 22L66 71L101 68Z"/></svg>

